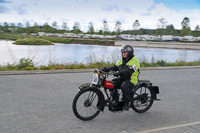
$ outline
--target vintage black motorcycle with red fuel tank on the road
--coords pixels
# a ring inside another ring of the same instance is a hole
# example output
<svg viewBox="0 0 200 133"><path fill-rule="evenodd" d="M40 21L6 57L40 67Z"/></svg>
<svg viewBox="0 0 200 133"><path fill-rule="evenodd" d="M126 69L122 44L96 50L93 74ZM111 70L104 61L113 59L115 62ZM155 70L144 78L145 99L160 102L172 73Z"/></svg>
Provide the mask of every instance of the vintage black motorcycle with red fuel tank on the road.
<svg viewBox="0 0 200 133"><path fill-rule="evenodd" d="M94 70L92 83L86 83L79 87L74 97L72 109L74 115L80 120L94 119L100 112L108 107L109 111L123 111L122 93L115 89L108 77L115 75L113 71L103 72L101 69ZM104 89L101 91L101 88ZM159 94L159 87L152 86L148 80L139 80L131 91L130 108L137 113L148 111ZM106 97L106 98L105 98Z"/></svg>

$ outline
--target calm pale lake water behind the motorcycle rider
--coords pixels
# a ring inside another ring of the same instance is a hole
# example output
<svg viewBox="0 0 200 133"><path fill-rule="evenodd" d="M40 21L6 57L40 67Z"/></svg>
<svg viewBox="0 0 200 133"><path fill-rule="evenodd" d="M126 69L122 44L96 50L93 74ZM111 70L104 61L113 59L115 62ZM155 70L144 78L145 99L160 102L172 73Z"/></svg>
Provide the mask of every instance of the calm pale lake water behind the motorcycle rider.
<svg viewBox="0 0 200 133"><path fill-rule="evenodd" d="M0 65L18 63L21 58L30 58L36 66L48 64L88 64L96 61L116 62L121 58L120 47L81 44L48 46L15 45L13 41L0 40ZM143 60L167 62L200 60L198 50L134 48L135 56Z"/></svg>

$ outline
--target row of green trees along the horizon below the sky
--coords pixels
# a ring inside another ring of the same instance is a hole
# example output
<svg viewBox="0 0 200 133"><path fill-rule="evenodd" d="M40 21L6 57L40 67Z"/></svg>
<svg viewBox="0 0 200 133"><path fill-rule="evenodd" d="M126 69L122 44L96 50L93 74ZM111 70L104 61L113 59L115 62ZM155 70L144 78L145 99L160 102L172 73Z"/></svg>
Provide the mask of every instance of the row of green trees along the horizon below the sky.
<svg viewBox="0 0 200 133"><path fill-rule="evenodd" d="M114 30L110 31L108 28L108 23L106 20L102 22L102 29L95 31L94 24L89 22L88 31L86 34L100 34L100 35L120 35L120 34L131 34L131 35L174 35L174 36L200 36L200 26L197 25L196 28L192 31L190 28L190 19L185 17L181 22L182 29L178 30L172 24L168 25L168 22L165 18L160 18L158 20L157 29L144 29L140 28L139 20L135 20L131 30L123 30L121 28L121 22L117 21L114 26ZM56 21L49 25L47 22L43 25L38 25L34 23L34 25L30 25L29 22L26 22L25 25L22 23L18 23L15 25L14 23L8 24L4 22L0 25L1 32L7 33L38 33L38 32L46 32L46 33L66 33L71 32L75 34L85 34L81 31L81 26L79 22L74 22L72 30L69 30L69 26L66 22L61 25L62 28L58 28L58 24Z"/></svg>

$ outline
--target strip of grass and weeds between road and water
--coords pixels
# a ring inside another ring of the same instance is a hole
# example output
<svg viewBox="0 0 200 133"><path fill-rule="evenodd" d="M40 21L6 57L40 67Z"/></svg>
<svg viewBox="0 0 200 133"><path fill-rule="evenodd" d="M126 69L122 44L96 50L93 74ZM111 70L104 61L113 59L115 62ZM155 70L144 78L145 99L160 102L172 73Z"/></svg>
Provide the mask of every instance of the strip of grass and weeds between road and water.
<svg viewBox="0 0 200 133"><path fill-rule="evenodd" d="M96 62L91 64L52 64L48 66L35 67L31 59L20 59L18 64L7 64L6 66L0 66L0 71L19 71L19 70L61 70L61 69L94 69L94 68L104 68L113 66L114 63L110 62ZM164 60L157 61L155 63L148 63L142 61L140 63L141 67L169 67L169 66L200 66L200 60L195 62L184 62L177 61L175 63L167 63Z"/></svg>

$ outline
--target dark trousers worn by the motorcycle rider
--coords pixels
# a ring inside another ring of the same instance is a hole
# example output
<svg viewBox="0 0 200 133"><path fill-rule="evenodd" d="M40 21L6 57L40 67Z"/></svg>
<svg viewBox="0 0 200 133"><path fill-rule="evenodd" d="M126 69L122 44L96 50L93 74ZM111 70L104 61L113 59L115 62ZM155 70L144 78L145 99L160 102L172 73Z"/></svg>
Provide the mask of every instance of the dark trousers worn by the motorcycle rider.
<svg viewBox="0 0 200 133"><path fill-rule="evenodd" d="M134 84L130 82L130 79L121 80L119 78L115 78L111 82L113 83L115 89L122 90L122 100L124 104L127 104L129 102L129 99L131 99L130 93L132 88L134 87Z"/></svg>

